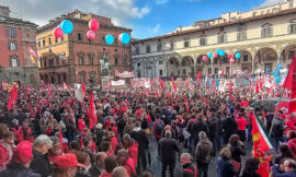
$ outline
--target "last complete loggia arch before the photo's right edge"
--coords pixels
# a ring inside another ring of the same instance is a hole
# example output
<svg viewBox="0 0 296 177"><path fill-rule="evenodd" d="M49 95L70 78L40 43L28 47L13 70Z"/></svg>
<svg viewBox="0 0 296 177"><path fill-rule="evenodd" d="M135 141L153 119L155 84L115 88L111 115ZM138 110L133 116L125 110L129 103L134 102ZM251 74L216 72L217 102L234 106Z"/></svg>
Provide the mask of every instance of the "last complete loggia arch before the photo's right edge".
<svg viewBox="0 0 296 177"><path fill-rule="evenodd" d="M271 47L259 48L254 56L254 71L272 72L277 66L277 54Z"/></svg>

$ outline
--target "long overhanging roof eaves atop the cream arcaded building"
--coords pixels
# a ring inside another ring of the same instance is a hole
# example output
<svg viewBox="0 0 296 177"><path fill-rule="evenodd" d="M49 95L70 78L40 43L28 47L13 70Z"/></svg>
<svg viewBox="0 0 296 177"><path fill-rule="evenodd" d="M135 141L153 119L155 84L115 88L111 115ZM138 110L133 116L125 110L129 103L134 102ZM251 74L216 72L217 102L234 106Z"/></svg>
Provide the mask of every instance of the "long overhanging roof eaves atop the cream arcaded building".
<svg viewBox="0 0 296 177"><path fill-rule="evenodd" d="M160 39L160 38L166 38L166 37L171 37L171 36L179 36L179 35L190 34L190 33L195 33L195 32L203 32L205 30L217 28L217 27L221 27L221 26L228 26L228 25L234 25L234 24L239 24L239 23L244 23L244 22L251 22L251 21L273 17L273 16L280 16L280 15L289 14L289 13L294 13L294 12L296 12L296 9L282 10L277 13L269 13L269 14L263 14L263 15L258 15L258 16L252 16L252 17L246 17L246 19L237 20L236 22L226 22L226 23L221 23L221 24L217 24L217 25L212 25L208 27L194 28L194 30L187 30L187 31L183 31L183 32L174 32L174 33L170 33L170 34L166 34L166 35L155 36L155 37L148 37L148 38L135 40L134 43Z"/></svg>

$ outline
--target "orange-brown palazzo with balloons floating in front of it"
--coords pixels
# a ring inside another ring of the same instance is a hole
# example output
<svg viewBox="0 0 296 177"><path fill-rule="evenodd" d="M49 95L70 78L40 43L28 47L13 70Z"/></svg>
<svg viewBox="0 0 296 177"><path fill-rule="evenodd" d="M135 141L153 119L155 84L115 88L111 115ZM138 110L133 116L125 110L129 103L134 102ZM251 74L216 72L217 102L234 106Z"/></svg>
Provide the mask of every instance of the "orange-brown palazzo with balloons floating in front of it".
<svg viewBox="0 0 296 177"><path fill-rule="evenodd" d="M62 38L56 38L54 28L65 19L72 22L73 31ZM91 19L96 19L100 23L93 40L87 37ZM109 17L84 14L78 10L49 21L37 30L39 78L54 84L82 81L88 84L92 76L96 84L102 84L114 76L115 70L132 71L130 44L123 45L117 39L124 32L130 34L132 30L115 26ZM113 45L105 43L104 37L107 34L114 36ZM111 63L109 72L101 71L101 60Z"/></svg>

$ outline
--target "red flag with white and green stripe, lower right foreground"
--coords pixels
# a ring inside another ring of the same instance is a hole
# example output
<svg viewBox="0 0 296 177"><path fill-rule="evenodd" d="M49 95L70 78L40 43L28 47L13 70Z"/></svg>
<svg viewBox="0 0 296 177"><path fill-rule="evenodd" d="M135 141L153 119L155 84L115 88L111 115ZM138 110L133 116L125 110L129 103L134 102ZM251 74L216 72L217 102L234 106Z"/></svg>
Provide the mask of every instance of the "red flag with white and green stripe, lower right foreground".
<svg viewBox="0 0 296 177"><path fill-rule="evenodd" d="M253 135L253 156L260 160L260 167L258 173L262 177L269 177L271 173L270 168L270 156L265 155L264 152L273 149L271 140L266 133L266 130L262 126L258 116L252 119L252 135Z"/></svg>

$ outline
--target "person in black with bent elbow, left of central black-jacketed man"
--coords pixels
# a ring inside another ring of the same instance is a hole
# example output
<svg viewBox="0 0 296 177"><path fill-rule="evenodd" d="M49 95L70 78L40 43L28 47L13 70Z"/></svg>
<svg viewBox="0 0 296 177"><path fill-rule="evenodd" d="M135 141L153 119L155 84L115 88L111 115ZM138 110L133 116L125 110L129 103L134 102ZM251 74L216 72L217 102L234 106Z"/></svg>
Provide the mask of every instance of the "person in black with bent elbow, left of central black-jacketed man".
<svg viewBox="0 0 296 177"><path fill-rule="evenodd" d="M130 138L138 142L138 161L137 161L137 174L140 174L140 169L144 170L147 167L146 154L149 151L149 140L146 132L140 128L140 121L136 122L135 128L130 132ZM143 165L143 167L141 167Z"/></svg>

